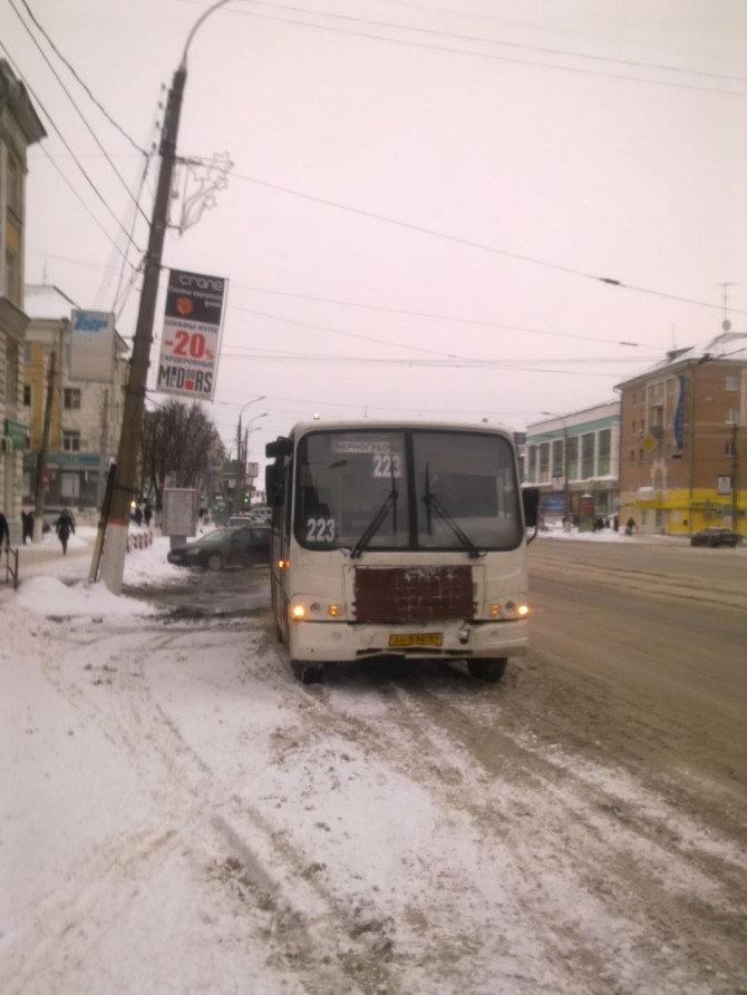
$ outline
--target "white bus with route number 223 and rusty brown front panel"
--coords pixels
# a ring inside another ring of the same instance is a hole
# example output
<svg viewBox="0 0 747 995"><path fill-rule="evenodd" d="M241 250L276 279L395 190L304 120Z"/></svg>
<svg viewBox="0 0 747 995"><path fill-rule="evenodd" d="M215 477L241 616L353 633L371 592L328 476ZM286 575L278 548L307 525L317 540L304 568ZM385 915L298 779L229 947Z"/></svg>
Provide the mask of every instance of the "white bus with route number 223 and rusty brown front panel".
<svg viewBox="0 0 747 995"><path fill-rule="evenodd" d="M537 491L508 430L313 421L266 456L272 607L300 681L392 655L497 681L526 653Z"/></svg>

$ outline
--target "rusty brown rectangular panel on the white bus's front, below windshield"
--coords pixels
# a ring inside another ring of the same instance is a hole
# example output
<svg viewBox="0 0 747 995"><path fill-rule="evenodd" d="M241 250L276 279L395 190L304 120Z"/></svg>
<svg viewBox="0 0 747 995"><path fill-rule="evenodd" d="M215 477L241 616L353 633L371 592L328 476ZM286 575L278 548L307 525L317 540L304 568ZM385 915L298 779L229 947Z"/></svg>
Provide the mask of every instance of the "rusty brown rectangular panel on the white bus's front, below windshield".
<svg viewBox="0 0 747 995"><path fill-rule="evenodd" d="M355 594L358 622L472 618L472 567L358 567Z"/></svg>

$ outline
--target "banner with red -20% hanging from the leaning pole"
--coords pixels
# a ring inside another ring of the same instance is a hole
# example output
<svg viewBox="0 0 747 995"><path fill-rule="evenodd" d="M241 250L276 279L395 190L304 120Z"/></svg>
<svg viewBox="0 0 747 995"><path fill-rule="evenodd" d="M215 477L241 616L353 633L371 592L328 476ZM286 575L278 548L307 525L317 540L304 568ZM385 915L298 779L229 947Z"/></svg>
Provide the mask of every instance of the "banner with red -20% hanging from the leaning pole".
<svg viewBox="0 0 747 995"><path fill-rule="evenodd" d="M227 284L220 276L169 271L156 390L213 399Z"/></svg>

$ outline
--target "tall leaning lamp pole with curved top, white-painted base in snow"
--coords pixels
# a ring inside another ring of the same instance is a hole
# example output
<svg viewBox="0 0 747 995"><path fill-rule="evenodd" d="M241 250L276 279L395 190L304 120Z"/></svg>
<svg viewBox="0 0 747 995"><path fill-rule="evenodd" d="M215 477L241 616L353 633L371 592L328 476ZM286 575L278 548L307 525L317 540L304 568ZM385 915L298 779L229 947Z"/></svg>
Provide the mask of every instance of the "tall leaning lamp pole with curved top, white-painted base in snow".
<svg viewBox="0 0 747 995"><path fill-rule="evenodd" d="M153 318L158 296L158 277L163 258L164 238L168 227L168 204L171 199L172 176L176 160L176 137L178 135L182 98L186 84L186 58L195 31L213 11L229 3L230 0L217 0L208 7L195 21L187 36L182 61L180 62L166 103L166 114L161 137L161 169L156 186L156 198L153 205L148 247L143 265L143 290L137 313L137 324L133 339L133 355L129 364L129 377L125 390L122 433L117 452L111 505L108 514L101 579L113 592L122 591L122 577L125 570L127 536L129 531L129 503L135 498L137 478L137 455L143 428L145 410L145 391L148 367L151 365L151 344L153 342ZM96 556L96 553L95 553ZM91 574L94 574L91 566Z"/></svg>

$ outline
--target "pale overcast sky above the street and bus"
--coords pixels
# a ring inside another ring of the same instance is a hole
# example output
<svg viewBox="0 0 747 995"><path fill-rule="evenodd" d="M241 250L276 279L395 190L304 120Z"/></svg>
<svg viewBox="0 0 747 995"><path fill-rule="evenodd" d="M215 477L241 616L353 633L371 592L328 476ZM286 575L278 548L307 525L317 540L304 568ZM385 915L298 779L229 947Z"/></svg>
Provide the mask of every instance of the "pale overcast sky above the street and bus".
<svg viewBox="0 0 747 995"><path fill-rule="evenodd" d="M210 6L0 3L49 134L26 280L125 338L157 176L138 149ZM521 430L605 401L718 334L725 293L747 330L745 0L232 0L187 66L178 154L233 169L164 265L230 281L207 408L231 446L265 396L250 458L313 412Z"/></svg>

